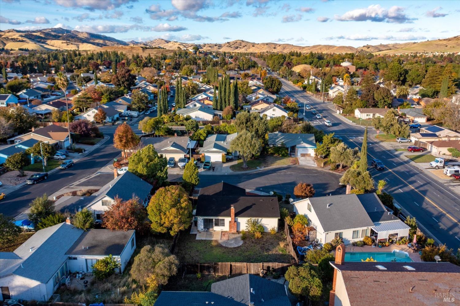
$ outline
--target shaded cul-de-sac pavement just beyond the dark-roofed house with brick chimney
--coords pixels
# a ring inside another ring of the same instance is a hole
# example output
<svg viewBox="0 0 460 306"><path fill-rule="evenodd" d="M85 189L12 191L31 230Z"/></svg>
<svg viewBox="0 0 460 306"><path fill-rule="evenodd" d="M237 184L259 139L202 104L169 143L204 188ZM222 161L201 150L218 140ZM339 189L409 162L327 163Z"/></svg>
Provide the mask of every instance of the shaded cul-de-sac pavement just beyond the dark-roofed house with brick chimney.
<svg viewBox="0 0 460 306"><path fill-rule="evenodd" d="M313 184L316 196L345 193L345 187L339 187L339 174L311 168L282 167L244 174L201 174L199 176L200 184L198 187L207 187L224 181L245 189L265 193L276 191L277 193L289 193L293 195L294 187L297 184L300 182L309 182ZM168 179L170 181L181 181L182 175L169 175Z"/></svg>

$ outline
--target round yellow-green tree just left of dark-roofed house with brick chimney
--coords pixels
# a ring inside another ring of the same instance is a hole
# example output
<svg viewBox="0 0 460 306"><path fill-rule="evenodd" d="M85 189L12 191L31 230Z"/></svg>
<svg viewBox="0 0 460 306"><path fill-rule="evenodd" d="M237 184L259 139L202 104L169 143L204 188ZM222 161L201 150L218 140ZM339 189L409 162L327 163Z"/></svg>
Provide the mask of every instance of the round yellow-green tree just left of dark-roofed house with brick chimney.
<svg viewBox="0 0 460 306"><path fill-rule="evenodd" d="M154 232L169 232L174 236L190 224L192 204L188 193L180 186L161 187L147 207Z"/></svg>

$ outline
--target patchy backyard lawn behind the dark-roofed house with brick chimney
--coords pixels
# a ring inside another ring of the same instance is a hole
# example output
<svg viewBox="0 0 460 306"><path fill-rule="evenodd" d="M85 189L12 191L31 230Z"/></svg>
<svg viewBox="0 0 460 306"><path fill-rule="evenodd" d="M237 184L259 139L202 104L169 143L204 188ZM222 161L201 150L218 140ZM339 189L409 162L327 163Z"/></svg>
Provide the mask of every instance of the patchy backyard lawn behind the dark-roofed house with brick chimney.
<svg viewBox="0 0 460 306"><path fill-rule="evenodd" d="M265 232L260 239L248 234L243 244L236 248L227 248L217 240L196 240L196 235L181 233L174 254L180 262L288 262L293 258L287 247L281 247L280 242L287 244L283 233L271 235Z"/></svg>

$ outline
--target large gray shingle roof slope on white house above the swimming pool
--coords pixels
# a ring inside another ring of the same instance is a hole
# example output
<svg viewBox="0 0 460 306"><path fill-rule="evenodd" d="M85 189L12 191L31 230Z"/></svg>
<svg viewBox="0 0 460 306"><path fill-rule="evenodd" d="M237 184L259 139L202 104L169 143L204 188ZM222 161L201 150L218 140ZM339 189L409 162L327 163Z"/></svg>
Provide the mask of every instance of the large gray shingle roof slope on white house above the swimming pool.
<svg viewBox="0 0 460 306"><path fill-rule="evenodd" d="M356 194L313 197L309 200L325 232L374 225Z"/></svg>

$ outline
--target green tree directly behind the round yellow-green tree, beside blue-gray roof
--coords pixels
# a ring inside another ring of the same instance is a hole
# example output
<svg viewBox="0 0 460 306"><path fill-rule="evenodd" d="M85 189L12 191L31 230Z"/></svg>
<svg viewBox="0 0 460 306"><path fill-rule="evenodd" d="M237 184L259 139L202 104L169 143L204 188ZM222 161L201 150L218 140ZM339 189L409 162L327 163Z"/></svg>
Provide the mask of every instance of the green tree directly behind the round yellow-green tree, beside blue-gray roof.
<svg viewBox="0 0 460 306"><path fill-rule="evenodd" d="M167 180L167 160L156 153L155 147L149 144L129 158L128 171L143 178L155 186L161 186Z"/></svg>

